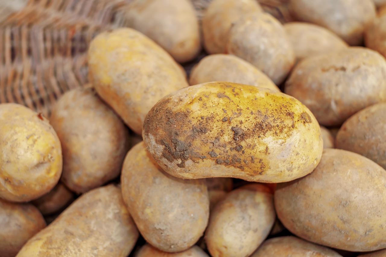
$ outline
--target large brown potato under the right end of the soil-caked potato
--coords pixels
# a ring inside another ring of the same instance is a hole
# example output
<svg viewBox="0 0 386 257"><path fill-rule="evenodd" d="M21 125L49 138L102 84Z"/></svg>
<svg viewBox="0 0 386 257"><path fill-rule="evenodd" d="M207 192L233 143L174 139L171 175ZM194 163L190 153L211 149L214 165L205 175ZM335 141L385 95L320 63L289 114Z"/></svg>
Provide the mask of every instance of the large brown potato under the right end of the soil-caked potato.
<svg viewBox="0 0 386 257"><path fill-rule="evenodd" d="M385 185L386 171L370 159L324 149L311 174L278 184L275 209L290 232L310 242L352 252L383 249Z"/></svg>

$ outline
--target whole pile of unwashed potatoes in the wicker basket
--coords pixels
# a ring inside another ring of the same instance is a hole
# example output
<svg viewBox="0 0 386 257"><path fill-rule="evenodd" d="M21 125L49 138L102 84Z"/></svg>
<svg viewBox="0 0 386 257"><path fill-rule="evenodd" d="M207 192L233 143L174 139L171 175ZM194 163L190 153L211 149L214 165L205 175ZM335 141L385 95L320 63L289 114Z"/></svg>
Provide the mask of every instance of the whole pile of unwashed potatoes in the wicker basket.
<svg viewBox="0 0 386 257"><path fill-rule="evenodd" d="M133 0L49 120L0 104L0 256L386 256L386 1L287 7Z"/></svg>

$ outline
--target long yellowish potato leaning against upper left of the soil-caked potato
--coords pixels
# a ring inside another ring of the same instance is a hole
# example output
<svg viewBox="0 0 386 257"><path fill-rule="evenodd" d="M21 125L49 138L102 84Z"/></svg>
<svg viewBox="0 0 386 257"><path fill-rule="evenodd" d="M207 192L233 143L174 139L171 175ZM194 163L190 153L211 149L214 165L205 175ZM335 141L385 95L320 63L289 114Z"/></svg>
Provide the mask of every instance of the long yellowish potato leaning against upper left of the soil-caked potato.
<svg viewBox="0 0 386 257"><path fill-rule="evenodd" d="M91 83L137 134L144 118L163 96L188 85L173 58L140 32L119 28L102 32L90 43Z"/></svg>

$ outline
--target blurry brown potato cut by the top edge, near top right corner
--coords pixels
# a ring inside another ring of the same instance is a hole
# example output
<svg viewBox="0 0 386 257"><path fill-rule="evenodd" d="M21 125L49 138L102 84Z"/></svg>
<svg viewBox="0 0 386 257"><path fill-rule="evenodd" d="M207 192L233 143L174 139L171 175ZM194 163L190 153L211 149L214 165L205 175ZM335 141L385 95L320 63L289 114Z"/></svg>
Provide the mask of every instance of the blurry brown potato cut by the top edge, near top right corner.
<svg viewBox="0 0 386 257"><path fill-rule="evenodd" d="M360 45L363 31L376 16L372 0L289 0L295 19L325 27L350 45Z"/></svg>

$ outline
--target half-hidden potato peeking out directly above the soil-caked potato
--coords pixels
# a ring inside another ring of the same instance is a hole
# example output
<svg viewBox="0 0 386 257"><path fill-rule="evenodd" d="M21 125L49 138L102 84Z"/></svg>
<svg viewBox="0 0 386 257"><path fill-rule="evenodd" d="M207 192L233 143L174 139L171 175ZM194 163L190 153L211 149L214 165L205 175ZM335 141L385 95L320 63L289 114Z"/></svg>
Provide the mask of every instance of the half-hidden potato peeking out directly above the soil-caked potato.
<svg viewBox="0 0 386 257"><path fill-rule="evenodd" d="M208 55L201 59L190 74L190 85L212 81L234 82L280 91L266 74L247 61L230 54Z"/></svg>

